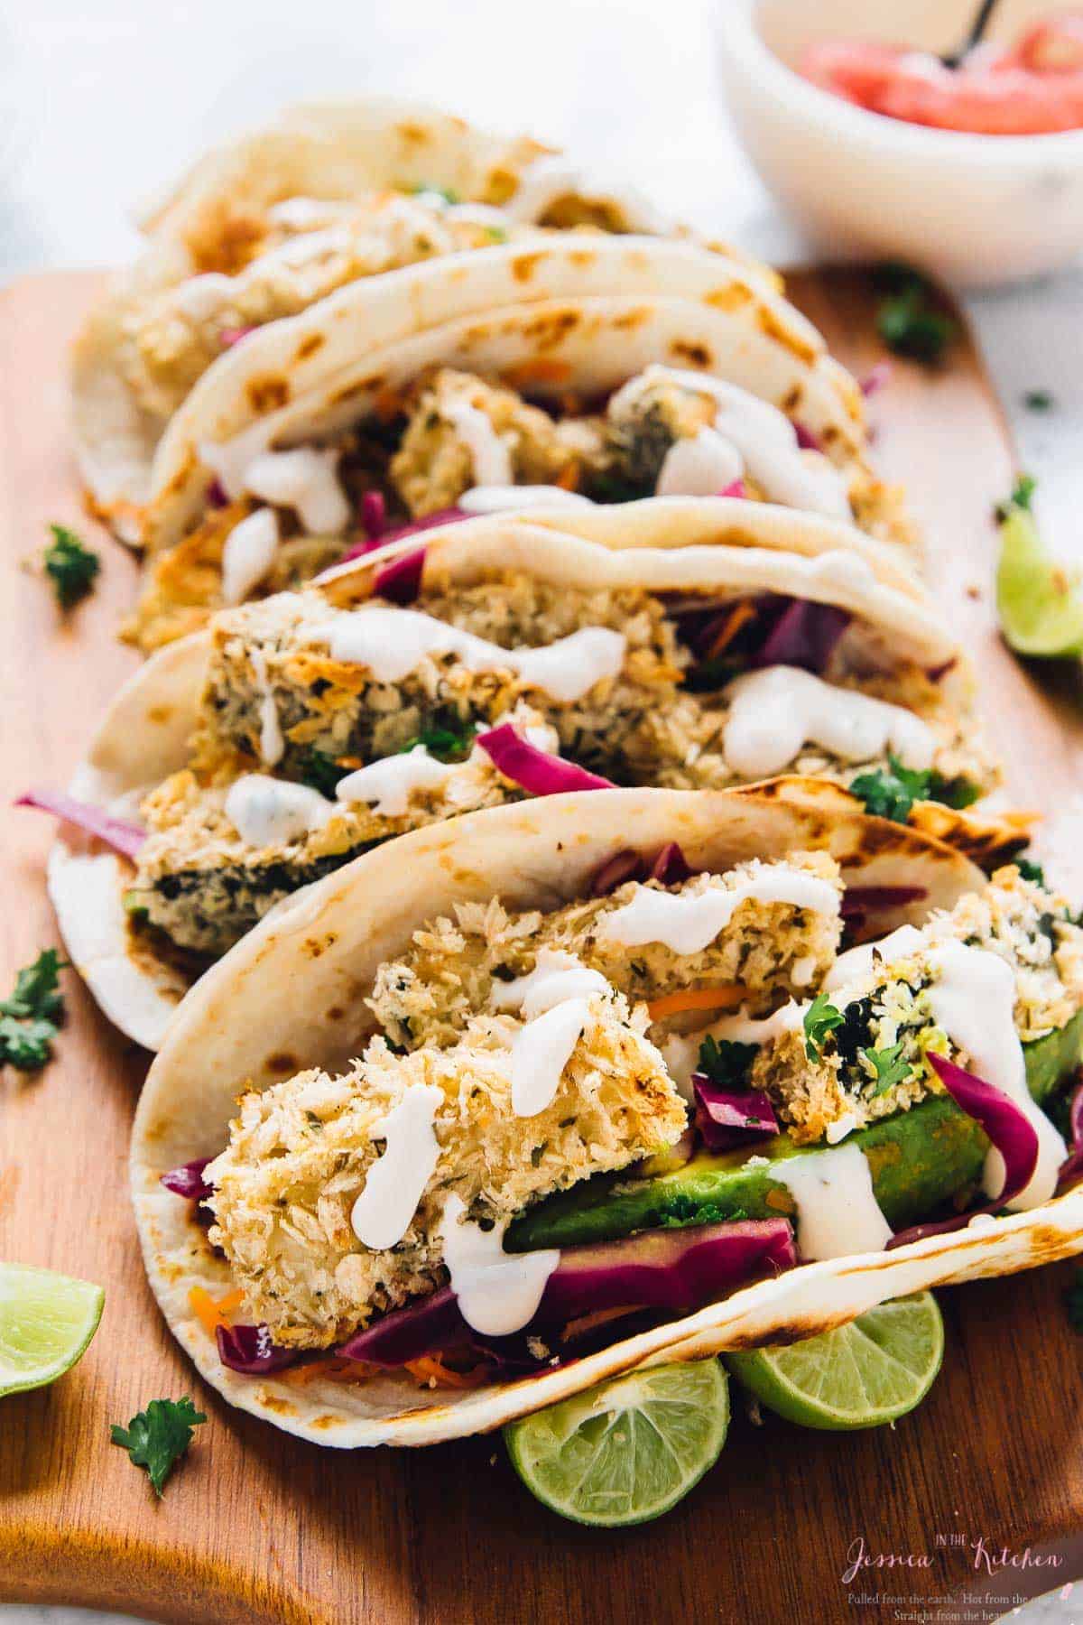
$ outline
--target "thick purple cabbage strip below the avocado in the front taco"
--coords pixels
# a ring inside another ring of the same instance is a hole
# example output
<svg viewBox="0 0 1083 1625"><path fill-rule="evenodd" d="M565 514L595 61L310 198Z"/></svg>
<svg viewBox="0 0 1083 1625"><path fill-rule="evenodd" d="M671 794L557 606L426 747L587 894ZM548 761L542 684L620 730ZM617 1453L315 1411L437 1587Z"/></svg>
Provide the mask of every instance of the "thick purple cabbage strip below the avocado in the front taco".
<svg viewBox="0 0 1083 1625"><path fill-rule="evenodd" d="M607 1308L685 1313L762 1276L792 1269L794 1233L786 1219L645 1230L620 1242L568 1246L546 1282L531 1329L565 1326ZM524 1328L526 1331L526 1328ZM494 1339L498 1349L507 1339ZM221 1346L221 1344L219 1344ZM482 1347L450 1287L385 1315L338 1350L370 1365L404 1365L434 1350Z"/></svg>

